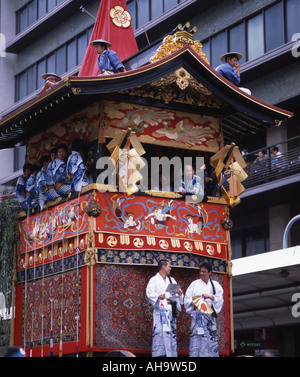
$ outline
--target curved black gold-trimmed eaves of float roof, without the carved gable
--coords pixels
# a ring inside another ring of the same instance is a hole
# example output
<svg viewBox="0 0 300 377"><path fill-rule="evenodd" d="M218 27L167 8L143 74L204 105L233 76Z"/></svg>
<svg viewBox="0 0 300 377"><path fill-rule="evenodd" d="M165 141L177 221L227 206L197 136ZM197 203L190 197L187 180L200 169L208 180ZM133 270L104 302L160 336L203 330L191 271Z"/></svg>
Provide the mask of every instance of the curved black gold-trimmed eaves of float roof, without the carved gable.
<svg viewBox="0 0 300 377"><path fill-rule="evenodd" d="M203 84L215 96L226 103L222 114L224 127L240 129L249 119L261 126L279 124L293 113L269 105L250 96L231 84L207 64L189 45L151 64L138 69L108 76L68 76L54 88L35 97L0 120L0 148L8 148L40 130L39 124L46 119L46 126L59 121L74 111L77 104L99 99L99 95L118 93L123 90L147 86L184 68L195 80ZM44 123L43 123L44 124ZM232 128L233 127L233 128ZM247 128L245 128L246 130Z"/></svg>

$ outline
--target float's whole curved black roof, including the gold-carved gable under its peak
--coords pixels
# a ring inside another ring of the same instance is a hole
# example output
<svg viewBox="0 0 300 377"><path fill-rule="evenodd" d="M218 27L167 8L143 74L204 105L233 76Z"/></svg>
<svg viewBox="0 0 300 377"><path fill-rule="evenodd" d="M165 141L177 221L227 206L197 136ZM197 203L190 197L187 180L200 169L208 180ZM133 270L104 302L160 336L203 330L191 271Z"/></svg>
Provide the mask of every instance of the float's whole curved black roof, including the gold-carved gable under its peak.
<svg viewBox="0 0 300 377"><path fill-rule="evenodd" d="M244 93L186 44L135 70L66 77L0 120L0 149L13 147L104 98L217 116L225 139L232 141L293 116Z"/></svg>

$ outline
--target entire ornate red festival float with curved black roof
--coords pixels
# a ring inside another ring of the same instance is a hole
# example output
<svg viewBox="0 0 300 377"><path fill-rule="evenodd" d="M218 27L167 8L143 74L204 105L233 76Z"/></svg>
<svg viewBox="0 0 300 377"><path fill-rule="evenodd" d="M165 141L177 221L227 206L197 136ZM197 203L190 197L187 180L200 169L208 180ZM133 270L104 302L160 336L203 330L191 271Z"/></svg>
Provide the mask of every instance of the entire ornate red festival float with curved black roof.
<svg viewBox="0 0 300 377"><path fill-rule="evenodd" d="M233 141L292 114L221 77L193 31L179 25L138 69L66 77L1 119L0 148L26 143L29 162L76 138L93 145L98 161L95 182L82 192L19 214L12 343L28 356L112 350L150 356L152 308L145 289L162 258L171 261L183 290L198 278L199 265L211 262L224 288L219 352L233 351L230 210L246 178ZM138 161L127 178L119 174L121 150ZM155 189L151 158L162 156L202 157L214 170L219 194L199 201ZM104 157L116 171L112 183L103 178ZM184 310L177 324L179 355L187 355L190 318Z"/></svg>

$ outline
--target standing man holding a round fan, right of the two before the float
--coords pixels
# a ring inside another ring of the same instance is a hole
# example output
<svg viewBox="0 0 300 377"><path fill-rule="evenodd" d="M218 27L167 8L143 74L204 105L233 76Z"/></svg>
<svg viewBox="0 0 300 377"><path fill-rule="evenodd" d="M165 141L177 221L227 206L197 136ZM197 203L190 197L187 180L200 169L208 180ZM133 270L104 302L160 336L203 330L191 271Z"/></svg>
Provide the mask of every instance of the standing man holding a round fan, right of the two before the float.
<svg viewBox="0 0 300 377"><path fill-rule="evenodd" d="M188 287L184 307L192 317L190 331L190 357L218 357L216 316L223 306L223 288L210 279L212 266L202 263L199 279Z"/></svg>

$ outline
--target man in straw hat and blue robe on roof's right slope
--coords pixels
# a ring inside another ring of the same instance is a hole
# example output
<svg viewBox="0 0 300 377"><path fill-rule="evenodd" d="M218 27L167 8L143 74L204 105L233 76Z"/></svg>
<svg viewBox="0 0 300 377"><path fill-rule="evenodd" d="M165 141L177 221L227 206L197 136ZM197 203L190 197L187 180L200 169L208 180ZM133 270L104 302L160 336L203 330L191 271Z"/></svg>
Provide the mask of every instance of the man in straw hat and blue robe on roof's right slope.
<svg viewBox="0 0 300 377"><path fill-rule="evenodd" d="M239 52L227 52L226 54L223 54L220 57L220 60L222 62L221 65L219 65L216 68L216 71L225 77L228 81L230 81L232 84L238 86L240 85L241 78L240 78L240 69L241 66L238 63L239 60L242 59L242 54ZM251 92L249 89L246 88L240 88L245 93L250 94Z"/></svg>

